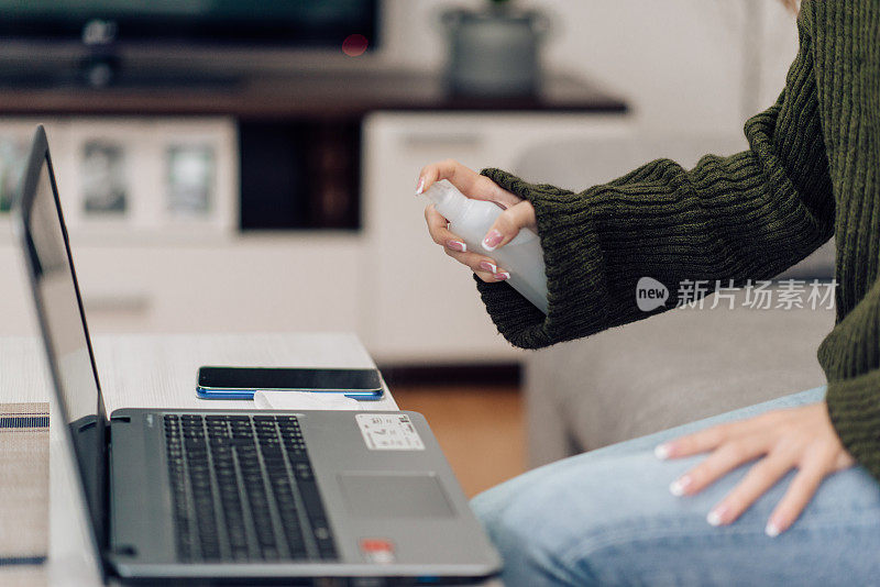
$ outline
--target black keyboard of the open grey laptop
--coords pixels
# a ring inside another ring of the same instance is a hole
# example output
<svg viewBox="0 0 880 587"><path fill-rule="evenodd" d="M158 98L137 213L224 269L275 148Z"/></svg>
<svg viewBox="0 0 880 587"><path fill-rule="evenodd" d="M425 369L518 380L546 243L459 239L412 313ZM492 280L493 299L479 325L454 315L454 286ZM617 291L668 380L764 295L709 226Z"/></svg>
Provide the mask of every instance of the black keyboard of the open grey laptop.
<svg viewBox="0 0 880 587"><path fill-rule="evenodd" d="M182 561L333 560L295 416L166 414Z"/></svg>

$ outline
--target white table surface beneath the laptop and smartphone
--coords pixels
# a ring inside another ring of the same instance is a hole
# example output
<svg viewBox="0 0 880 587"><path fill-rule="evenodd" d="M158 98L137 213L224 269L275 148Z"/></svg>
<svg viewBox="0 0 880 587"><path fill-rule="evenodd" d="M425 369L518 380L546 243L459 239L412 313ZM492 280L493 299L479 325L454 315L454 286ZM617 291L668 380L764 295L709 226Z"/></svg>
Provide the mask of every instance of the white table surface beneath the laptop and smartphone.
<svg viewBox="0 0 880 587"><path fill-rule="evenodd" d="M117 335L97 336L94 343L108 413L119 408L253 409L252 401L198 399L196 373L201 365L375 366L358 337L345 333ZM2 401L52 401L48 582L99 585L81 503L72 491L75 472L40 344L36 339L0 339L0 397ZM384 398L371 401L370 409L396 410L397 405L386 388Z"/></svg>

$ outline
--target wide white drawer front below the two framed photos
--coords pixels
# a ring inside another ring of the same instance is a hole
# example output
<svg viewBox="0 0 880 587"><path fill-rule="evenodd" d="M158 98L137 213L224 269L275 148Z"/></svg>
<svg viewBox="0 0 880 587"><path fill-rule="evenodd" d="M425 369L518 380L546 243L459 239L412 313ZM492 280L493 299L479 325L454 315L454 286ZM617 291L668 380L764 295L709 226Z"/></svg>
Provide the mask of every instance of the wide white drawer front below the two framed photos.
<svg viewBox="0 0 880 587"><path fill-rule="evenodd" d="M94 332L355 331L362 289L356 235L242 236L207 244L72 243ZM14 246L2 334L32 334L32 301Z"/></svg>

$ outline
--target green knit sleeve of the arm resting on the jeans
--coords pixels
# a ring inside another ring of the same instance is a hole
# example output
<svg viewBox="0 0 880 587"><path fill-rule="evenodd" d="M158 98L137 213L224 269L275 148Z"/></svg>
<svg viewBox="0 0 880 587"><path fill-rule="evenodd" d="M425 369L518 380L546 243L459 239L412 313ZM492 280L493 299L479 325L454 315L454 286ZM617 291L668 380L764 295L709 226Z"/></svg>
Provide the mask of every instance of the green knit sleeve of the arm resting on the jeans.
<svg viewBox="0 0 880 587"><path fill-rule="evenodd" d="M818 361L837 435L880 479L880 278L822 342Z"/></svg>

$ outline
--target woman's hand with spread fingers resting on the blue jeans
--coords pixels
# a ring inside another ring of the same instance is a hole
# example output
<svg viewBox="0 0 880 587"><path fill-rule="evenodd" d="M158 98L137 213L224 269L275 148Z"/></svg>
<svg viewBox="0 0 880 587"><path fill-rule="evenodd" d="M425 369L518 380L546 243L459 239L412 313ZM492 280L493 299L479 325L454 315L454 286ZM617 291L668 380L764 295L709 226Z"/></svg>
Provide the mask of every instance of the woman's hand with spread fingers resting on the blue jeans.
<svg viewBox="0 0 880 587"><path fill-rule="evenodd" d="M760 457L708 513L706 520L712 525L732 523L790 469L799 469L767 522L770 536L794 523L822 479L855 464L834 431L824 401L716 425L661 444L654 453L660 458L676 458L707 451L712 454L703 463L670 485L673 495L696 494L739 465Z"/></svg>

